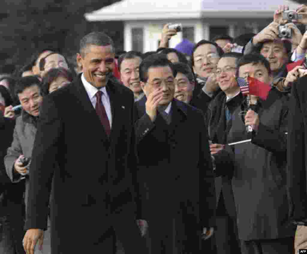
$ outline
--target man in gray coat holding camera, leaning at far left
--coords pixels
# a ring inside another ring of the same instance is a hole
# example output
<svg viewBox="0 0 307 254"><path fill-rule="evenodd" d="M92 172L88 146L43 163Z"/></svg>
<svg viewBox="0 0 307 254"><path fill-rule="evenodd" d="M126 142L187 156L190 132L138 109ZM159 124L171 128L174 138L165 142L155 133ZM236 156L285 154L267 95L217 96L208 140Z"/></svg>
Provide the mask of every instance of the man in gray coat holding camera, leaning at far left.
<svg viewBox="0 0 307 254"><path fill-rule="evenodd" d="M13 141L7 149L4 164L6 173L13 183L19 183L25 179L25 205L27 210L30 158L43 101L41 81L34 76L22 77L16 84L15 93L20 100L22 111L21 115L16 118ZM49 231L45 233L45 238L49 238ZM45 250L50 249L48 241L45 241L43 248Z"/></svg>

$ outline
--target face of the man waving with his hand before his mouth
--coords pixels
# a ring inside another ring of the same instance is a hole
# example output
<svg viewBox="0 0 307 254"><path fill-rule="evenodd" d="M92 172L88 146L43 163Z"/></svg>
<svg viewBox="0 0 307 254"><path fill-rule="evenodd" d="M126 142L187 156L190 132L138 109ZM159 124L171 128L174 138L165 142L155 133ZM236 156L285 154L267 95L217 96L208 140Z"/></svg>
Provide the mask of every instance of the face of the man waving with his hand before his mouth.
<svg viewBox="0 0 307 254"><path fill-rule="evenodd" d="M142 89L148 97L150 93L162 88L163 97L159 105L168 105L174 97L175 84L172 69L169 66L150 67L148 69L148 80L141 82Z"/></svg>

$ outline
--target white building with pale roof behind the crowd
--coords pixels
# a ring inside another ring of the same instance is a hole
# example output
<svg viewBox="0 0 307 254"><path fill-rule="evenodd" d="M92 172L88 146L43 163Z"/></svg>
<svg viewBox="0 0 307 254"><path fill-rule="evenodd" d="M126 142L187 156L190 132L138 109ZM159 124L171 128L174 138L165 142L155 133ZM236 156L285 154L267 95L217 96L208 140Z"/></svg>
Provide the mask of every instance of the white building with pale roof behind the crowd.
<svg viewBox="0 0 307 254"><path fill-rule="evenodd" d="M124 0L85 14L89 21L123 21L124 50L141 52L158 48L161 31L167 23L181 23L183 31L169 41L175 47L183 38L191 42L211 40L218 34L231 37L258 33L273 21L280 1L246 2L244 0ZM290 10L297 3L287 1Z"/></svg>

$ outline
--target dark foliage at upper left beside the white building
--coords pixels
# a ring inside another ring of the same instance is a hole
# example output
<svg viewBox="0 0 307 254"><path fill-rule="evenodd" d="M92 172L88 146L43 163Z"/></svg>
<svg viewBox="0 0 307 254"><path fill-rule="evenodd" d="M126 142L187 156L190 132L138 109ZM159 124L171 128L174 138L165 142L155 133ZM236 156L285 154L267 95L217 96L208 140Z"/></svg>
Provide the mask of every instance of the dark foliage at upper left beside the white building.
<svg viewBox="0 0 307 254"><path fill-rule="evenodd" d="M85 13L117 1L2 0L0 65L22 66L44 48L70 57L79 51L80 39L91 31L107 33L122 50L122 22L88 22L84 18Z"/></svg>

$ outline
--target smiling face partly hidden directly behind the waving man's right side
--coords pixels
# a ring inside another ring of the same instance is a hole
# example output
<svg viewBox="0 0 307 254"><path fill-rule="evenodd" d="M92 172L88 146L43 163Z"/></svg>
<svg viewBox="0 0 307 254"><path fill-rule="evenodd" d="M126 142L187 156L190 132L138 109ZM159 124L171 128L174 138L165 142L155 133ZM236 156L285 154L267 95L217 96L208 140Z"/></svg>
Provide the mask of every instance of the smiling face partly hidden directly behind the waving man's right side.
<svg viewBox="0 0 307 254"><path fill-rule="evenodd" d="M194 86L195 83L190 82L185 74L178 72L175 78L175 99L190 103Z"/></svg>

